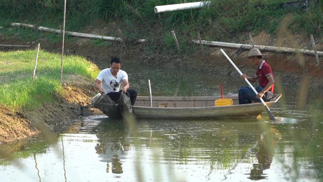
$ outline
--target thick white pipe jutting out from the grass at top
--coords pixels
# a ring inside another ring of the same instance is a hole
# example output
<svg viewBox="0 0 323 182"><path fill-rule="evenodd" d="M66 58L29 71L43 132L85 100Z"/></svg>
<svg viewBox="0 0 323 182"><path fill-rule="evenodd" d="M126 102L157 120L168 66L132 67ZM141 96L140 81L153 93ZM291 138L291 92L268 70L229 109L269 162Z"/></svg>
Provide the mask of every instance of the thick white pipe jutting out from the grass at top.
<svg viewBox="0 0 323 182"><path fill-rule="evenodd" d="M195 8L202 8L204 6L208 6L209 4L211 4L210 1L155 6L154 11L155 13L161 13L161 12L178 11L178 10L189 10L189 9L195 9Z"/></svg>

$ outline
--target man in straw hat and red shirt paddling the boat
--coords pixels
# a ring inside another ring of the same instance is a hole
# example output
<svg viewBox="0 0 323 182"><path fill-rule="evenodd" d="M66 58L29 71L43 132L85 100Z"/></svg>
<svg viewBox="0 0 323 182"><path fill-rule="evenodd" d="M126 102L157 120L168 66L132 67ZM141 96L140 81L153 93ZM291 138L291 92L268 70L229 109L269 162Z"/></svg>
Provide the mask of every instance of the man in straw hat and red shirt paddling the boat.
<svg viewBox="0 0 323 182"><path fill-rule="evenodd" d="M274 74L270 65L268 65L257 48L252 48L248 54L248 59L253 66L258 66L256 73L249 77L245 74L241 75L242 79L247 78L250 82L259 80L259 85L255 88L257 95L249 86L241 86L239 89L239 104L251 104L253 102L260 102L260 98L267 102L273 98L274 93Z"/></svg>

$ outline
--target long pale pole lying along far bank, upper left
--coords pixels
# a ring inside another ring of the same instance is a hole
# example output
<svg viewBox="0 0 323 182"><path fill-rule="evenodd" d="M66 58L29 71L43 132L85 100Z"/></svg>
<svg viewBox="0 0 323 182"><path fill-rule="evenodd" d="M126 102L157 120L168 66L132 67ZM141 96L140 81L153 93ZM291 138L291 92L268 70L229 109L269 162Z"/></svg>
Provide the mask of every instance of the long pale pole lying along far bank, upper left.
<svg viewBox="0 0 323 182"><path fill-rule="evenodd" d="M35 25L31 24L24 24L24 23L11 23L12 26L22 26L25 28L33 28L37 29L39 31L46 31L46 32L52 32L52 33L62 33L59 29L54 28L47 28L47 27L36 27ZM89 34L89 33L79 33L79 32L71 32L71 31L65 31L65 34L71 35L71 36L77 36L77 37L83 37L83 38L96 38L96 39L103 39L103 40L109 40L109 41L124 41L120 37L112 37L112 36L104 36L104 35L95 35L95 34ZM145 42L145 39L138 39L137 42Z"/></svg>

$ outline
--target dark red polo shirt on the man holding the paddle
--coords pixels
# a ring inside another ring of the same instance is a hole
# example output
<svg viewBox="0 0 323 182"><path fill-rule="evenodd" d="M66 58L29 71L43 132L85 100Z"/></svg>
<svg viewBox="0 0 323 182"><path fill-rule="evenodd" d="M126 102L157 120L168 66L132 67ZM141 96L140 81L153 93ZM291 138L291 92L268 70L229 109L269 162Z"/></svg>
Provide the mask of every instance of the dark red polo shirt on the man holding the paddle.
<svg viewBox="0 0 323 182"><path fill-rule="evenodd" d="M258 76L259 84L263 88L268 84L269 80L267 79L268 75L272 75L274 77L274 73L270 65L268 65L264 60L261 62L258 70L256 71L256 75ZM274 93L274 84L269 89L272 93Z"/></svg>

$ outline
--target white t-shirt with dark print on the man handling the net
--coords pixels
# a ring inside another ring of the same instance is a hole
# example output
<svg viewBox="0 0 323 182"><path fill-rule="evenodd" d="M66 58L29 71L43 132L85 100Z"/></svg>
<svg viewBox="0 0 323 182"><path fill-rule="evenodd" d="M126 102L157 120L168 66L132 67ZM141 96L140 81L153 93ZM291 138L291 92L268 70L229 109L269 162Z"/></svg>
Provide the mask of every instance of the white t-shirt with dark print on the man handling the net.
<svg viewBox="0 0 323 182"><path fill-rule="evenodd" d="M128 74L123 71L119 70L117 73L117 77L113 76L111 73L111 68L106 68L100 71L99 75L97 75L98 80L101 82L101 88L104 90L105 94L111 92L119 92L120 90L120 83L122 80L128 80Z"/></svg>

